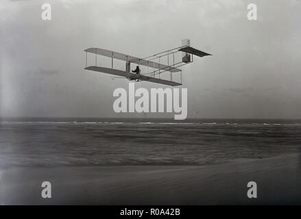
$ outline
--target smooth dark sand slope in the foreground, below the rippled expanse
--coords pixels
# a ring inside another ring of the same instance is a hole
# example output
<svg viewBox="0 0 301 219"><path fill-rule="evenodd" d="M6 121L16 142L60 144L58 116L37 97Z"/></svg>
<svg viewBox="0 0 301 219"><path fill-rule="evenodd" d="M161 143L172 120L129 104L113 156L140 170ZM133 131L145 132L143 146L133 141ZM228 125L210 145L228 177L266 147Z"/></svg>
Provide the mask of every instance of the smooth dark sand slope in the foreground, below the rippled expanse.
<svg viewBox="0 0 301 219"><path fill-rule="evenodd" d="M50 181L52 198L41 198ZM258 198L247 197L256 181ZM301 157L207 166L67 166L0 170L1 205L301 204Z"/></svg>

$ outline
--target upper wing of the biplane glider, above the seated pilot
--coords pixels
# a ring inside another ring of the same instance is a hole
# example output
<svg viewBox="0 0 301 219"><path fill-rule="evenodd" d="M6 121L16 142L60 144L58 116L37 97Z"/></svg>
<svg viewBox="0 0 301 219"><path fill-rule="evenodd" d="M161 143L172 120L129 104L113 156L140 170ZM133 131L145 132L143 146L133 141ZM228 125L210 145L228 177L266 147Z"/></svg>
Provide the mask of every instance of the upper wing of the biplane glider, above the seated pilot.
<svg viewBox="0 0 301 219"><path fill-rule="evenodd" d="M165 64L159 64L158 62L152 62L148 60L143 60L139 57L134 57L132 55L125 55L123 53L117 53L115 51L110 51L106 49L99 49L99 48L90 48L85 50L88 53L94 53L98 55L104 55L107 57L113 57L117 60L123 60L125 62L132 62L135 64L141 64L143 66L148 66L151 68L156 68L156 69L162 69L162 70L167 70L169 72L175 73L181 71L179 68L173 68L171 66L167 66Z"/></svg>

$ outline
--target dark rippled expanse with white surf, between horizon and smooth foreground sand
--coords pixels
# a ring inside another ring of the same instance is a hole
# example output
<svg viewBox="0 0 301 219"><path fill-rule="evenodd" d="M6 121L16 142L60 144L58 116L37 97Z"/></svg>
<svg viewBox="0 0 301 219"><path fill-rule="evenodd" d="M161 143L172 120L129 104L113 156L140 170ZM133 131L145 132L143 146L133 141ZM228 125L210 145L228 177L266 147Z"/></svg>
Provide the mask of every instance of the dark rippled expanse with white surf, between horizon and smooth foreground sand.
<svg viewBox="0 0 301 219"><path fill-rule="evenodd" d="M15 118L0 167L206 165L300 153L301 120Z"/></svg>

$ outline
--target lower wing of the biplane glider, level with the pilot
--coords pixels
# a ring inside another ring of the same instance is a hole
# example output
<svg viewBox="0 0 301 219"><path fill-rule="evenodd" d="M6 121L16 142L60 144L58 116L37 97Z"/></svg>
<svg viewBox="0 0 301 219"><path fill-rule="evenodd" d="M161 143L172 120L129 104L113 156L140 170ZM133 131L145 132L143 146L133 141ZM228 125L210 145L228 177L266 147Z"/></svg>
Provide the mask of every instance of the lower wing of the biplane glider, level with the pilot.
<svg viewBox="0 0 301 219"><path fill-rule="evenodd" d="M95 71L98 71L100 73L107 73L107 74L111 74L111 75L119 75L119 76L122 76L122 77L128 77L130 79L139 79L141 81L151 81L151 82L154 82L154 83L162 83L162 84L169 85L169 86L182 85L182 83L177 83L177 82L174 82L174 81L167 81L167 80L158 79L158 78L154 78L154 77L147 77L145 75L132 74L132 73L128 73L126 71L118 70L118 69L114 69L114 68L104 68L104 67L99 67L99 66L88 66L84 69L86 69L86 70L95 70Z"/></svg>

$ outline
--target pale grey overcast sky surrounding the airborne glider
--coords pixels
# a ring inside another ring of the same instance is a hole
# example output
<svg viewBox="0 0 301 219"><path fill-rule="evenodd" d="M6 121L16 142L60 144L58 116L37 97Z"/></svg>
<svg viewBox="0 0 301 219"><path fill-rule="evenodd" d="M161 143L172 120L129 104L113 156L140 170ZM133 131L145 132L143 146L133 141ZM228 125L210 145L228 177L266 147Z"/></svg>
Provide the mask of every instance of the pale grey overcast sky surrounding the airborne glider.
<svg viewBox="0 0 301 219"><path fill-rule="evenodd" d="M43 3L0 1L0 116L128 116L112 108L128 81L84 70L84 49L146 57L190 38L213 54L183 68L190 118L301 118L299 0L49 0L51 21Z"/></svg>

